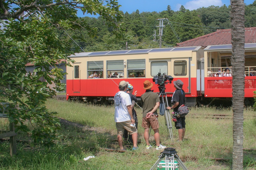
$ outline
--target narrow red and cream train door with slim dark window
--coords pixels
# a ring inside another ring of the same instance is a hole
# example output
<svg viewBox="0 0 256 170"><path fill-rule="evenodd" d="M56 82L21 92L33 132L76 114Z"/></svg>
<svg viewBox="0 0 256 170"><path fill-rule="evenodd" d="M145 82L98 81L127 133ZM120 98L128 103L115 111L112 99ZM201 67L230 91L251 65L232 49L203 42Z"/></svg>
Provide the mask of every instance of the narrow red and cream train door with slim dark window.
<svg viewBox="0 0 256 170"><path fill-rule="evenodd" d="M73 63L73 74L72 74L72 90L74 93L80 93L81 89L81 63Z"/></svg>

